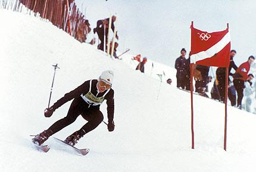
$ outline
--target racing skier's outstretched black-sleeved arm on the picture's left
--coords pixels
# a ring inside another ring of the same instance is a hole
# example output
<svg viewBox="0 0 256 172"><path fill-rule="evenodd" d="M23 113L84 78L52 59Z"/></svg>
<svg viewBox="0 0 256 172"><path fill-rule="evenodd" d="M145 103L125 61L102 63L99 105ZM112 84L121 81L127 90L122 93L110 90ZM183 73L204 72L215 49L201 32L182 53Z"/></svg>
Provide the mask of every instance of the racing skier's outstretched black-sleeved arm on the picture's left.
<svg viewBox="0 0 256 172"><path fill-rule="evenodd" d="M77 87L76 89L70 91L70 93L67 93L64 95L64 97L60 98L54 105L52 106L55 109L58 109L63 104L67 103L67 101L72 100L73 98L79 97L79 95L82 94L82 91L86 88L89 88L89 81L84 82L82 85Z"/></svg>

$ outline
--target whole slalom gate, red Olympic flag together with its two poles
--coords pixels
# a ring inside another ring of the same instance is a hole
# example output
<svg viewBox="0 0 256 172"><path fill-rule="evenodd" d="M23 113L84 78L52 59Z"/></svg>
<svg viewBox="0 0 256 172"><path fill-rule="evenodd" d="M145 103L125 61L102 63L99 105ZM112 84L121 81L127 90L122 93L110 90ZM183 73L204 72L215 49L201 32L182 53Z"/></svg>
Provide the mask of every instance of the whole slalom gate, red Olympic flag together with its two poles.
<svg viewBox="0 0 256 172"><path fill-rule="evenodd" d="M192 149L195 148L193 130L193 64L204 66L217 66L226 68L226 81L228 81L230 58L229 24L226 30L208 33L193 28L191 24L191 132ZM227 82L225 83L225 124L224 124L224 150L227 148Z"/></svg>

